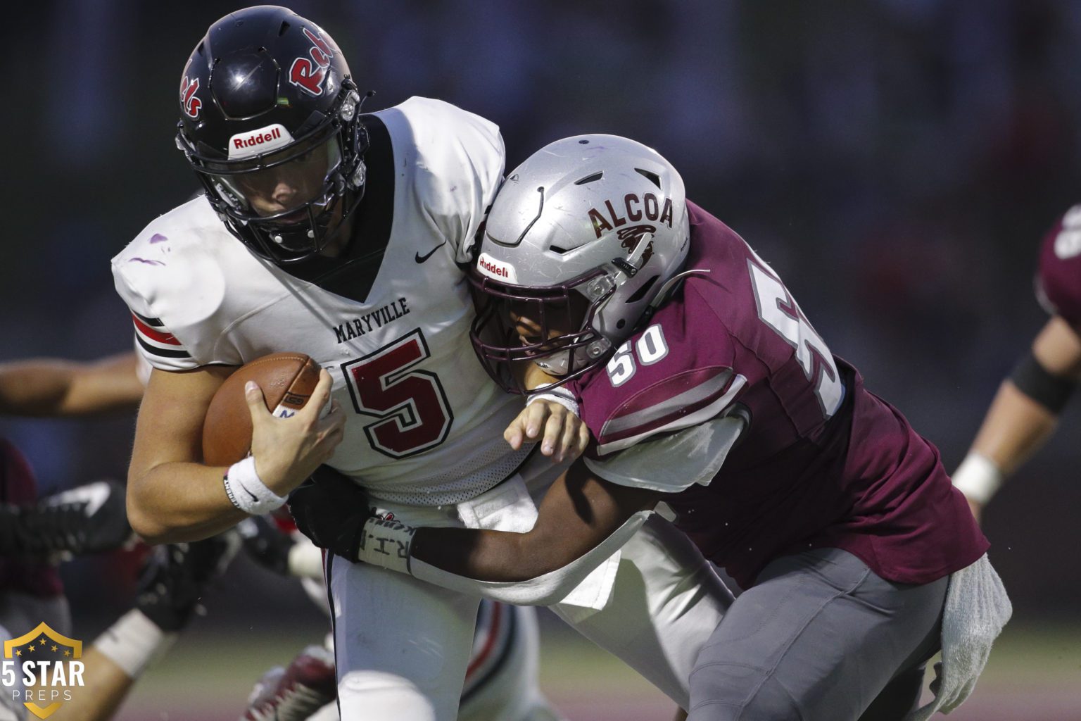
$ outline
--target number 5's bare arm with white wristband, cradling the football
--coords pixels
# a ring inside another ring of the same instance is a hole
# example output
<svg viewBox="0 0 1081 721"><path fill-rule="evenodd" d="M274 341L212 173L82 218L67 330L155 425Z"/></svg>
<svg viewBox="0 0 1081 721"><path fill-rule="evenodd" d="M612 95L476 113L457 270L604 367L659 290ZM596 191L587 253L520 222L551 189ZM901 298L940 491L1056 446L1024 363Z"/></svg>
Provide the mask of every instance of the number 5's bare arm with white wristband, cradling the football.
<svg viewBox="0 0 1081 721"><path fill-rule="evenodd" d="M135 444L128 473L128 517L136 533L151 543L198 540L235 525L248 513L230 498L224 479L244 478L246 489L267 491L278 505L334 452L342 440L344 414L336 404L320 418L330 399L331 378L323 371L311 401L290 418L275 418L263 392L249 384L253 464L238 468L204 466L202 425L215 391L236 369L204 365L193 371L155 370L139 406ZM253 496L254 497L254 496ZM239 498L240 504L244 498ZM261 510L265 512L269 508Z"/></svg>

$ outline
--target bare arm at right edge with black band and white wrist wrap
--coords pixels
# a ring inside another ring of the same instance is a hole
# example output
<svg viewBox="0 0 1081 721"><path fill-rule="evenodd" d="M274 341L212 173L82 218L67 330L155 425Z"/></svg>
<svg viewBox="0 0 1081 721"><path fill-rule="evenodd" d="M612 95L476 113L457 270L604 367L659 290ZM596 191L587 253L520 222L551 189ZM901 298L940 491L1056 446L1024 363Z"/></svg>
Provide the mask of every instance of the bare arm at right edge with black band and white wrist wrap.
<svg viewBox="0 0 1081 721"><path fill-rule="evenodd" d="M1055 316L1030 352L1002 382L969 455L953 473L973 512L1051 437L1058 415L1081 380L1081 336Z"/></svg>

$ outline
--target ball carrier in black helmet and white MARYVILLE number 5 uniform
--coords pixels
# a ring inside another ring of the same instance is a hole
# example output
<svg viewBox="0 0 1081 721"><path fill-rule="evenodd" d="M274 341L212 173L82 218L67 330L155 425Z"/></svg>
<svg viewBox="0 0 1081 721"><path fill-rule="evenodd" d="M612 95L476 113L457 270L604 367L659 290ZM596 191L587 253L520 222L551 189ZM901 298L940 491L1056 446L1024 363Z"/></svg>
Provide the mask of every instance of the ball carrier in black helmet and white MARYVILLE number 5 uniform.
<svg viewBox="0 0 1081 721"><path fill-rule="evenodd" d="M129 472L133 528L156 543L214 534L280 507L323 462L388 518L530 528L533 495L560 470L544 456L585 436L562 399L523 411L472 353L465 267L504 169L496 126L416 97L360 116L330 36L272 6L212 25L178 101L177 143L206 197L112 261L155 366ZM283 350L324 369L309 408L272 418L253 386L252 456L202 465L215 390ZM534 425L540 453L518 442ZM325 573L343 717L454 718L478 597L333 559ZM730 598L656 522L557 613L685 705L702 631Z"/></svg>

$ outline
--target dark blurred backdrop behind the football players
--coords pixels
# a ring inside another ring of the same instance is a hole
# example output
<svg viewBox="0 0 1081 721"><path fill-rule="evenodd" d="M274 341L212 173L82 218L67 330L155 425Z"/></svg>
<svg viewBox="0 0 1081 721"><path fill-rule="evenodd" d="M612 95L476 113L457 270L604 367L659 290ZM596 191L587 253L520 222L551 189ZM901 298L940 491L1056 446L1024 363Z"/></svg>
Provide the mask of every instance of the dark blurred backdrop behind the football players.
<svg viewBox="0 0 1081 721"><path fill-rule="evenodd" d="M181 70L206 26L237 6L6 6L0 360L131 348L108 261L196 189L173 143ZM1043 322L1037 250L1081 200L1081 3L291 6L337 40L361 90L376 91L365 110L412 95L455 103L499 124L508 171L584 132L655 147L693 200L777 268L833 352L939 446L949 469ZM55 489L122 478L132 422L0 418L0 435ZM1076 615L1081 571L1058 561L1081 511L1079 432L1081 414L1068 411L986 516L1018 620ZM130 602L122 556L64 574L82 638ZM241 574L215 615L242 609L241 589L253 585L275 589L268 615L308 605L269 574Z"/></svg>

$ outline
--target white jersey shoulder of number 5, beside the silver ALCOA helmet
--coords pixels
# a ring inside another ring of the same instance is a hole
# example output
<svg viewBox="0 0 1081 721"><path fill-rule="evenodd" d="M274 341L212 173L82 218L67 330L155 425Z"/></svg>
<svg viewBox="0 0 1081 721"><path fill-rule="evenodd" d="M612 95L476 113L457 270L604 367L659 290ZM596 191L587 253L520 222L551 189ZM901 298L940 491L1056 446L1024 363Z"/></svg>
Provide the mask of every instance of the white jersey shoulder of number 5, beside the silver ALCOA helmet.
<svg viewBox="0 0 1081 721"><path fill-rule="evenodd" d="M399 162L416 168L413 190L419 205L454 245L455 261L470 263L477 230L503 179L506 153L499 129L480 116L427 97L411 97L395 109L408 118L413 133L408 151L415 157Z"/></svg>

